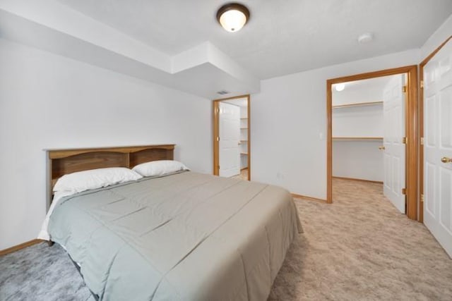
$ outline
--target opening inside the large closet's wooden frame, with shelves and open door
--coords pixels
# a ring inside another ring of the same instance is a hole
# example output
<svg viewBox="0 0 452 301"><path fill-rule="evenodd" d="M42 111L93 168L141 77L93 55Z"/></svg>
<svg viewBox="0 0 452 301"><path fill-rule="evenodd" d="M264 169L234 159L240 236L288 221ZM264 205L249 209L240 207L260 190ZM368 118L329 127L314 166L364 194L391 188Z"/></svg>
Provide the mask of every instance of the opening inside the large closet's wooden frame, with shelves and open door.
<svg viewBox="0 0 452 301"><path fill-rule="evenodd" d="M370 185L375 197L386 197L405 214L407 78L402 73L332 86L333 199L344 185Z"/></svg>

